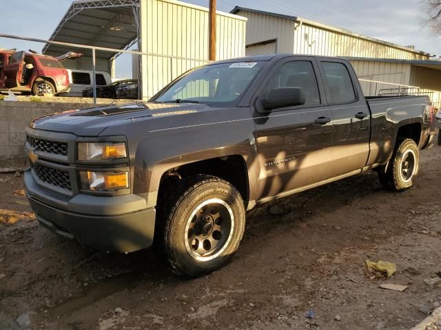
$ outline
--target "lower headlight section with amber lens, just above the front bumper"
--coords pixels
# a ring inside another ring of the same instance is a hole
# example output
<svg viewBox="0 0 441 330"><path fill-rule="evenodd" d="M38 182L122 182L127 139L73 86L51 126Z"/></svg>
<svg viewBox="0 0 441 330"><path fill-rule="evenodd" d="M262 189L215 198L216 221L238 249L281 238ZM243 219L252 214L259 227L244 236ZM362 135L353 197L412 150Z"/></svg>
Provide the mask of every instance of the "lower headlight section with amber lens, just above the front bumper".
<svg viewBox="0 0 441 330"><path fill-rule="evenodd" d="M128 172L81 171L81 188L92 191L113 191L129 188Z"/></svg>

